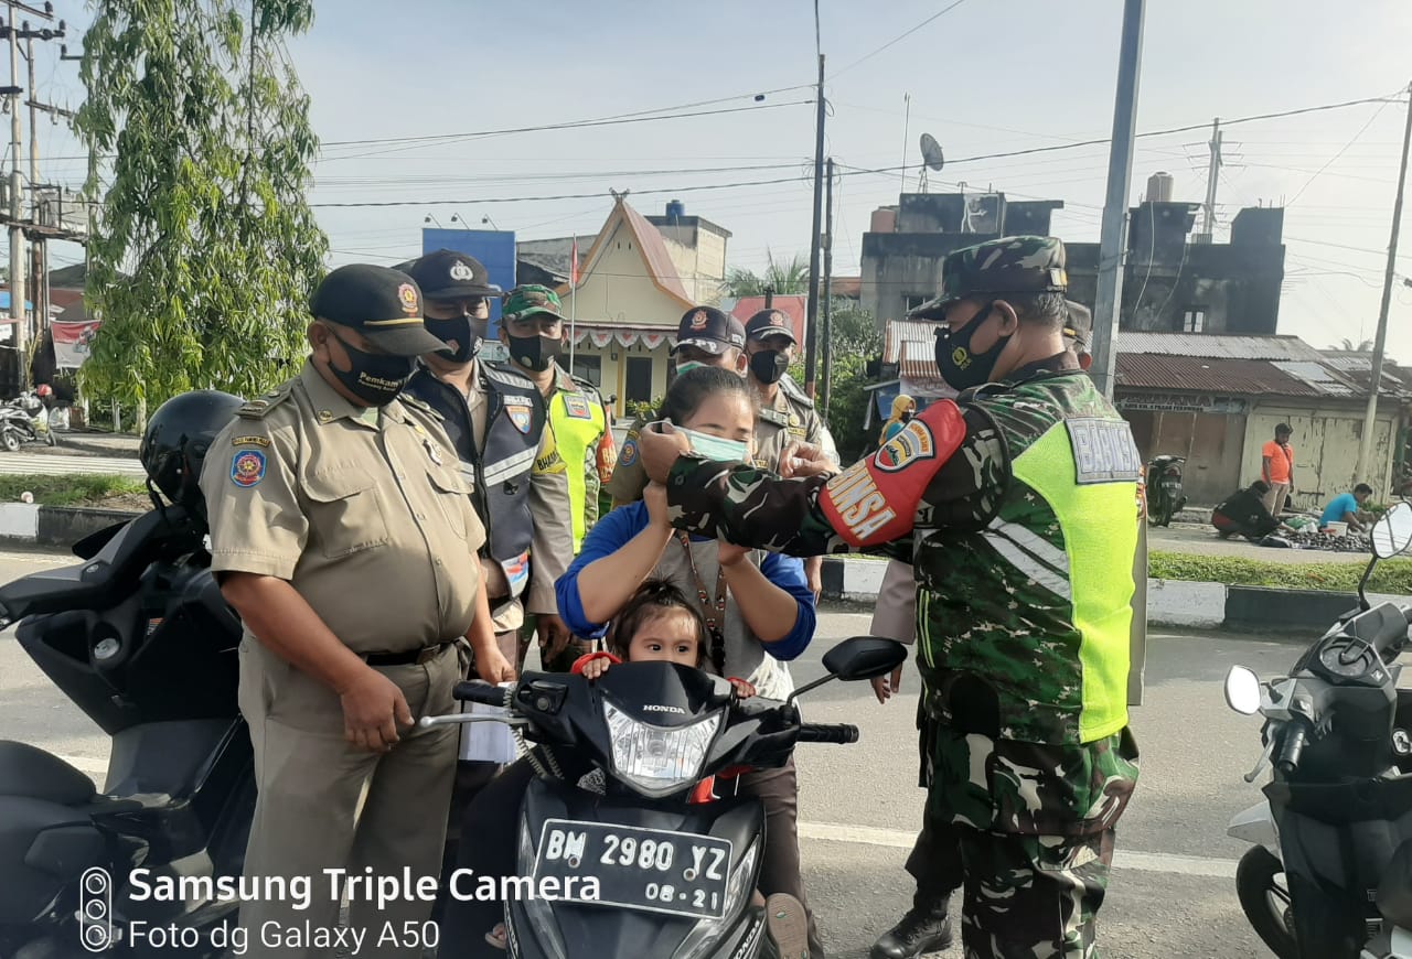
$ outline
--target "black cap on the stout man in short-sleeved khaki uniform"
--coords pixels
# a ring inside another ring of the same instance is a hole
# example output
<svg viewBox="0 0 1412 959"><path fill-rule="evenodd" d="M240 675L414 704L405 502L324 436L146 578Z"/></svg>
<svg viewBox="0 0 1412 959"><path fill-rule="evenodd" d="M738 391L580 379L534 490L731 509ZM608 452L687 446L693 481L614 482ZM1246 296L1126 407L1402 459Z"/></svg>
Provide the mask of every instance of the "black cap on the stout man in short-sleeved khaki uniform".
<svg viewBox="0 0 1412 959"><path fill-rule="evenodd" d="M422 292L417 283L387 267L339 267L313 291L309 312L326 323L357 330L393 355L419 357L446 348L422 326Z"/></svg>

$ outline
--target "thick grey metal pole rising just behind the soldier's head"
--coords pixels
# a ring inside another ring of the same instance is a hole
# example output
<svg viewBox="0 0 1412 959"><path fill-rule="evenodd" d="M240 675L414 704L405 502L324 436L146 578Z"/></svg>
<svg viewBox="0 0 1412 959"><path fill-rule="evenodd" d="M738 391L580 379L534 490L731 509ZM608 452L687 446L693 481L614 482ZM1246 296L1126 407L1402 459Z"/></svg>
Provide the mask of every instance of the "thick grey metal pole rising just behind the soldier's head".
<svg viewBox="0 0 1412 959"><path fill-rule="evenodd" d="M1099 241L1099 292L1093 309L1093 368L1099 389L1113 398L1117 372L1118 314L1123 309L1123 259L1127 248L1128 185L1132 178L1132 137L1138 116L1138 73L1142 66L1144 0L1123 3L1123 47L1118 51L1118 90L1113 106L1113 144L1108 149L1108 190L1103 203Z"/></svg>

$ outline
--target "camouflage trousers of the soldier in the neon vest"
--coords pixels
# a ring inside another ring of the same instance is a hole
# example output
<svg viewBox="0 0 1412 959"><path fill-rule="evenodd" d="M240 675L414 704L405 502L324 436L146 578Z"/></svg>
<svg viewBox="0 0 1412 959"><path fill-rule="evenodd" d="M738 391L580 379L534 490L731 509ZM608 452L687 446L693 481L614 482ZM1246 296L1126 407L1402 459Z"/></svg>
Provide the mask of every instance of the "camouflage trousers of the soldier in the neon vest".
<svg viewBox="0 0 1412 959"><path fill-rule="evenodd" d="M926 860L908 866L935 893L963 890L967 959L1096 958L1114 826L1138 777L1131 732L1049 746L933 722L923 743Z"/></svg>

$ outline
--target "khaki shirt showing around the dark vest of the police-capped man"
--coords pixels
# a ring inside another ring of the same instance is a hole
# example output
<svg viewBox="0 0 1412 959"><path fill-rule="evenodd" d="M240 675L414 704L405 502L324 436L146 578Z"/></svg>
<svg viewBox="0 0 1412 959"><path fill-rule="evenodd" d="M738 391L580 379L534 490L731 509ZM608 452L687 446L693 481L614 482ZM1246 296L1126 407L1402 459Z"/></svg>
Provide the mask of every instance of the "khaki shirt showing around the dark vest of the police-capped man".
<svg viewBox="0 0 1412 959"><path fill-rule="evenodd" d="M476 448L484 450L486 415L490 405L486 401L486 391L481 388L479 368L470 378L470 395L466 398L466 406L470 409L470 427L476 433ZM534 470L530 474L530 515L534 519L534 539L530 543L530 587L518 598L500 602L498 597L510 594L505 571L494 560L487 558L481 563L497 633L520 629L525 621L525 609L532 613L559 615L559 599L554 594L554 582L568 573L569 563L573 561L573 519L569 512L572 503L565 470L563 458L554 441L554 430L549 429L549 417L545 416L544 436L539 437L539 451L535 454Z"/></svg>

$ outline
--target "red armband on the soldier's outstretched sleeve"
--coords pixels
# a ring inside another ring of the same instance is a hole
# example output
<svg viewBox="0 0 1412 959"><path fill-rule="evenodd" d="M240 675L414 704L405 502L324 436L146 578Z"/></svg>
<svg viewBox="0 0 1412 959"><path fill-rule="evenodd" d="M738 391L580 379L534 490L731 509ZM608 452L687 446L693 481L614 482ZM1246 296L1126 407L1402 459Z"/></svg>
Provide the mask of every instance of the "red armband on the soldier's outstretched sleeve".
<svg viewBox="0 0 1412 959"><path fill-rule="evenodd" d="M877 453L829 481L819 495L829 526L853 546L905 536L932 477L964 439L960 408L949 399L932 403Z"/></svg>

